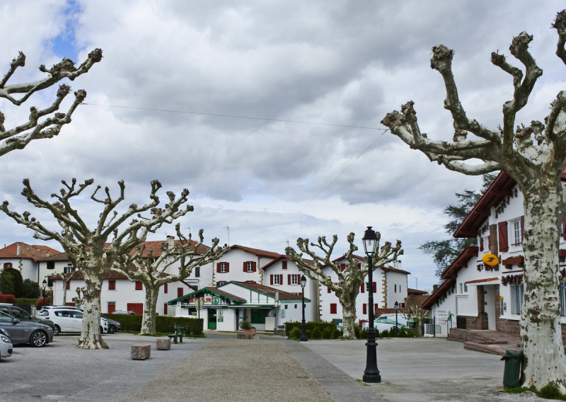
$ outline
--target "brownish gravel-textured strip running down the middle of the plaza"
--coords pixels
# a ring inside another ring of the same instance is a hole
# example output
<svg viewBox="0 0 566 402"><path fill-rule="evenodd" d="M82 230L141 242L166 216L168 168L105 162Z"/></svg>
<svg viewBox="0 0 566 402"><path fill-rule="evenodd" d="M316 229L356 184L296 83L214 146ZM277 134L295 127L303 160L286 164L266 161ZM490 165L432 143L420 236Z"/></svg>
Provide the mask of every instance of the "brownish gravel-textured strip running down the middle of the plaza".
<svg viewBox="0 0 566 402"><path fill-rule="evenodd" d="M333 401L279 342L213 339L122 401Z"/></svg>

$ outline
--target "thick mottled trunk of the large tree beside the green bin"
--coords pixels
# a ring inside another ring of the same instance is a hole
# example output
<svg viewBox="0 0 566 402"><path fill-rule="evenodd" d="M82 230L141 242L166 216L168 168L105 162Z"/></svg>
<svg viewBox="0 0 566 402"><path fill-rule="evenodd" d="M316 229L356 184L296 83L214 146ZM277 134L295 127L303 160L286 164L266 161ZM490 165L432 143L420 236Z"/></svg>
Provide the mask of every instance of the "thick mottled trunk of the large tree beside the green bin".
<svg viewBox="0 0 566 402"><path fill-rule="evenodd" d="M533 180L530 180L531 183ZM566 357L560 327L558 250L564 216L560 180L538 180L524 195L524 303L521 348L524 386L549 383L566 389Z"/></svg>

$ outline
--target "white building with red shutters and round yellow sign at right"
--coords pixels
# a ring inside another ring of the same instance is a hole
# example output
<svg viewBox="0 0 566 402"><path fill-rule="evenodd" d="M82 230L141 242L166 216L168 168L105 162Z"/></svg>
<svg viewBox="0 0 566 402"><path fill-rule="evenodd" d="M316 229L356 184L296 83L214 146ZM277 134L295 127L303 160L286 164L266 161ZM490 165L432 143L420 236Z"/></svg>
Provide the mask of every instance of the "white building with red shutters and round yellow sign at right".
<svg viewBox="0 0 566 402"><path fill-rule="evenodd" d="M431 316L440 321L450 318L458 328L519 335L524 294L523 214L519 187L507 173L499 173L454 234L475 236L477 246L466 248L443 272L444 282L422 305L431 311ZM562 222L563 228L565 224L566 221ZM486 253L496 255L499 264L483 263ZM566 267L565 258L562 236L560 270ZM560 299L564 325L565 285L560 288Z"/></svg>

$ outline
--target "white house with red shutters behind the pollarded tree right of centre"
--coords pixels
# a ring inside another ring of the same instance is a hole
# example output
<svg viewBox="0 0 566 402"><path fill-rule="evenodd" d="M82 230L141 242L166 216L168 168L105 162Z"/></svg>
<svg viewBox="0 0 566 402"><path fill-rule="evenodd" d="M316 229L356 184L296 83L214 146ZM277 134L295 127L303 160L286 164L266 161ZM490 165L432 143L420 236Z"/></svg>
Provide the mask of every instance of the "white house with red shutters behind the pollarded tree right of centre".
<svg viewBox="0 0 566 402"><path fill-rule="evenodd" d="M359 260L358 267L361 268L364 258L354 255ZM340 264L340 270L346 269L347 260L345 255L333 260L333 263ZM395 302L401 307L405 307L405 299L407 298L407 277L410 272L400 269L400 261L396 263L397 267L379 267L374 270L373 283L371 286L374 291L374 312L378 309L392 308ZM328 265L322 267L325 275L332 278L334 283L338 283L336 272ZM368 321L369 311L367 305L367 291L369 290L369 282L365 282L356 299L356 321ZM340 301L330 290L330 288L320 285L319 291L319 316L322 321L342 322L342 306Z"/></svg>

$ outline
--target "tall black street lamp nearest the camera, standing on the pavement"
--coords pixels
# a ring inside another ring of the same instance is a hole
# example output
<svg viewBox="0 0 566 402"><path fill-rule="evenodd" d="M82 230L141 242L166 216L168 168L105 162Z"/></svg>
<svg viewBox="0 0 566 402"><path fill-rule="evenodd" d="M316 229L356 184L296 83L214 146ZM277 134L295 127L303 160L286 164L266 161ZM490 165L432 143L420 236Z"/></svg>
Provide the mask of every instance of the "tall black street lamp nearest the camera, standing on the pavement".
<svg viewBox="0 0 566 402"><path fill-rule="evenodd" d="M369 266L367 277L369 282L369 292L367 294L369 306L369 329L367 331L367 350L366 350L366 369L362 377L364 382L381 382L381 374L377 368L377 351L376 351L376 331L374 330L374 254L376 253L377 236L376 232L367 226L364 233L364 251L367 256Z"/></svg>

